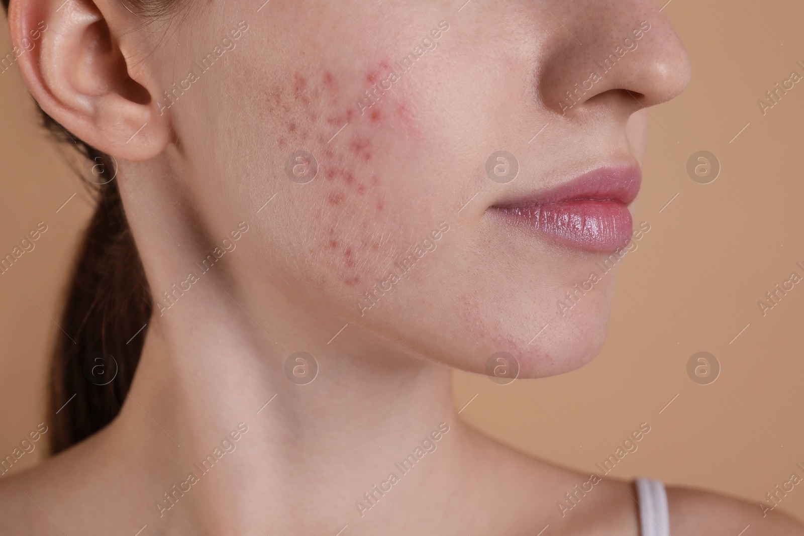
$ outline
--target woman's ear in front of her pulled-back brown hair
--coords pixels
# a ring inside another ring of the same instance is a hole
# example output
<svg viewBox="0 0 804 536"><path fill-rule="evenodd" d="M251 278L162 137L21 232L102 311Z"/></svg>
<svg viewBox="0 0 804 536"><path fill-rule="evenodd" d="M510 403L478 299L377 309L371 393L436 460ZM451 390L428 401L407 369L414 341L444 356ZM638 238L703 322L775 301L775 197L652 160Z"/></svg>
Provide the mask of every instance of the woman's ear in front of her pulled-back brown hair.
<svg viewBox="0 0 804 536"><path fill-rule="evenodd" d="M131 35L126 15L134 17L119 1L12 0L9 27L11 42L25 47L18 65L39 106L96 149L142 161L170 143L170 115L160 115L145 85L156 80L146 55L129 60L134 51L117 39Z"/></svg>

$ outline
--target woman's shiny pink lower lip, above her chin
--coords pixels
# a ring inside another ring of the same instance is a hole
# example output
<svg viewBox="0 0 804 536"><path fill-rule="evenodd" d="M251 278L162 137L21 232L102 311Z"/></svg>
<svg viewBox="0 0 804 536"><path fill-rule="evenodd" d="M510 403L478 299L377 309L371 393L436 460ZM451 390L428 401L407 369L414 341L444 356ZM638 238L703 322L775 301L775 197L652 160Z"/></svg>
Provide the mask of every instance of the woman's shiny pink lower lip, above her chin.
<svg viewBox="0 0 804 536"><path fill-rule="evenodd" d="M628 207L612 199L576 199L495 210L511 223L532 228L557 243L590 252L624 248L634 229Z"/></svg>

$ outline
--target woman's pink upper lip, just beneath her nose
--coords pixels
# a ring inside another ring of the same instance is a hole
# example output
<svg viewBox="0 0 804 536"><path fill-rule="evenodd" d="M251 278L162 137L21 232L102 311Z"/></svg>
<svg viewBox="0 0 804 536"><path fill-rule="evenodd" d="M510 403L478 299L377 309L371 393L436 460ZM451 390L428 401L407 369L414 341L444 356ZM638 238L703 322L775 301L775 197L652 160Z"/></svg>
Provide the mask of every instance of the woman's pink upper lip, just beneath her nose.
<svg viewBox="0 0 804 536"><path fill-rule="evenodd" d="M527 208L580 200L619 201L628 205L637 197L641 183L638 166L606 166L554 188L496 203L492 208Z"/></svg>

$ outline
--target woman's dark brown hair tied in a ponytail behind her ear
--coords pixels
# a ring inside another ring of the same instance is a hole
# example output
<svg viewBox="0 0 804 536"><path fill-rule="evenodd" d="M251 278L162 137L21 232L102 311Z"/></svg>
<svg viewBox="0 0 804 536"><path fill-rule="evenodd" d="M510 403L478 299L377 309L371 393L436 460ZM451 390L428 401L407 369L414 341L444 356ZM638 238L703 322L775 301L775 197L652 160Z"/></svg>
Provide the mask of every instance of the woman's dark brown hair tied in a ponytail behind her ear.
<svg viewBox="0 0 804 536"><path fill-rule="evenodd" d="M2 0L6 11L10 1ZM162 17L177 4L176 0L125 2L143 18ZM55 454L104 428L120 411L142 354L147 331L143 326L153 303L113 178L113 159L39 111L55 140L76 146L100 171L97 180L82 177L96 199L96 209L80 240L66 289L59 325L67 335L59 332L51 360L47 419L52 432L47 436ZM109 376L117 372L113 381L98 385L105 380L92 374L96 363Z"/></svg>

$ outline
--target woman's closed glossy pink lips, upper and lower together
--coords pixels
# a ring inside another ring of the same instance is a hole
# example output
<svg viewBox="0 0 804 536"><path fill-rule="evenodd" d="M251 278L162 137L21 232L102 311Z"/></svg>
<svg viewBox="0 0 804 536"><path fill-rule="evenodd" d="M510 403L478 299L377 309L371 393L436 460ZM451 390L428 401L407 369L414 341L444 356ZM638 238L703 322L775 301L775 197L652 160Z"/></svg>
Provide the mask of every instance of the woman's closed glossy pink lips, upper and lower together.
<svg viewBox="0 0 804 536"><path fill-rule="evenodd" d="M605 167L531 196L497 203L494 213L572 248L613 252L633 231L628 205L642 182L638 167Z"/></svg>

